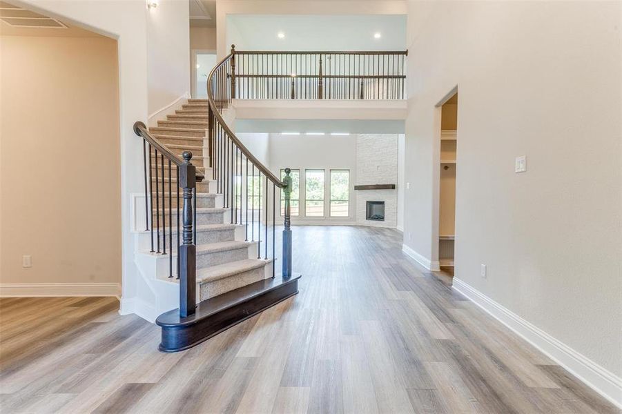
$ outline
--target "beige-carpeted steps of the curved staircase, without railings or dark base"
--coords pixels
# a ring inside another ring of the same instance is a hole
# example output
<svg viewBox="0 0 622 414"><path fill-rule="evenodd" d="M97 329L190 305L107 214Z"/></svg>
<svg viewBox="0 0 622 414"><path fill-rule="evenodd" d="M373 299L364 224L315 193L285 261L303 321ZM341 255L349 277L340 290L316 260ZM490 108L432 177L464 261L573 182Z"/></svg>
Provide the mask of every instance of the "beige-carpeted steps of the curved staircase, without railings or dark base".
<svg viewBox="0 0 622 414"><path fill-rule="evenodd" d="M212 177L211 168L206 167L209 164L207 128L207 99L188 99L188 103L184 104L181 110L176 110L175 115L168 115L166 121L158 121L157 127L149 128L149 132L166 148L178 153L179 156L186 150L191 151L192 162L197 167L197 171L202 172L205 177ZM164 172L164 182L168 188L166 165ZM152 177L155 181L155 173ZM172 179L172 182L174 186L177 186L176 179ZM217 199L220 201L222 197L215 192L210 192L210 187L215 191L215 180L204 179L197 183L195 206L197 213L195 221L197 226L197 239L195 240L197 302L272 277L272 260L257 259L257 242L235 239L235 228L242 225L229 224L231 209L216 206ZM165 205L167 205L166 202ZM173 203L175 202L176 199L173 197ZM164 209L164 213L168 214L167 208ZM173 231L176 234L176 228ZM173 258L175 259L176 255ZM170 275L159 277L177 280Z"/></svg>

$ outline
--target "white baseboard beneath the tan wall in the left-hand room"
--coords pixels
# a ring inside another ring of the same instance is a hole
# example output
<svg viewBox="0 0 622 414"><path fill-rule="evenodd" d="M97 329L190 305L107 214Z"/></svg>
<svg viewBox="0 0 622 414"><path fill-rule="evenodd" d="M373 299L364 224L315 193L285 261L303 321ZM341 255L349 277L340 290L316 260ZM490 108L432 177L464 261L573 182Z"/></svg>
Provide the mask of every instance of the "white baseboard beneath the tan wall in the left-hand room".
<svg viewBox="0 0 622 414"><path fill-rule="evenodd" d="M4 283L0 297L43 296L116 296L121 294L118 283Z"/></svg>

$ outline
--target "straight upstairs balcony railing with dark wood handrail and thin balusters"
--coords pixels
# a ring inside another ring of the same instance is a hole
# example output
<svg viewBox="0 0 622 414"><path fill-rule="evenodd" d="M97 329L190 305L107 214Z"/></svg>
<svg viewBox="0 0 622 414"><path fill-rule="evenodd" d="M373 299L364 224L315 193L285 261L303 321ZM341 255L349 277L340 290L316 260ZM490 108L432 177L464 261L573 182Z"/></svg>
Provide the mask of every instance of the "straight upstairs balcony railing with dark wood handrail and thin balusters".
<svg viewBox="0 0 622 414"><path fill-rule="evenodd" d="M405 99L407 50L377 52L237 51L233 99Z"/></svg>

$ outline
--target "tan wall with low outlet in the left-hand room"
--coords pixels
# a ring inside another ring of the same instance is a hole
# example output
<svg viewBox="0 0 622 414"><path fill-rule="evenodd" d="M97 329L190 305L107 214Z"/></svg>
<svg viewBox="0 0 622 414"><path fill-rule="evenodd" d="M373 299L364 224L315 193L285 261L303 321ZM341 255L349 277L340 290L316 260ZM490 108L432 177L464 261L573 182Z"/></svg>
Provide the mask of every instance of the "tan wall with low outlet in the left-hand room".
<svg viewBox="0 0 622 414"><path fill-rule="evenodd" d="M0 60L0 282L120 283L117 41L0 37Z"/></svg>

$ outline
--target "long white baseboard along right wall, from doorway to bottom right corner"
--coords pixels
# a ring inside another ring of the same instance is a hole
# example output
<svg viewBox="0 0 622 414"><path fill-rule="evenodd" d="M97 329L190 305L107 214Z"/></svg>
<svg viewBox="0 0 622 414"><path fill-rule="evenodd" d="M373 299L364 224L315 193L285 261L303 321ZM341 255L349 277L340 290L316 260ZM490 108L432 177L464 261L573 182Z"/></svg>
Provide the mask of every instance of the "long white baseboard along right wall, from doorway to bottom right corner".
<svg viewBox="0 0 622 414"><path fill-rule="evenodd" d="M563 366L581 382L622 408L622 378L603 368L563 342L527 322L503 305L498 304L463 280L454 277L454 289L510 328L518 336Z"/></svg>

